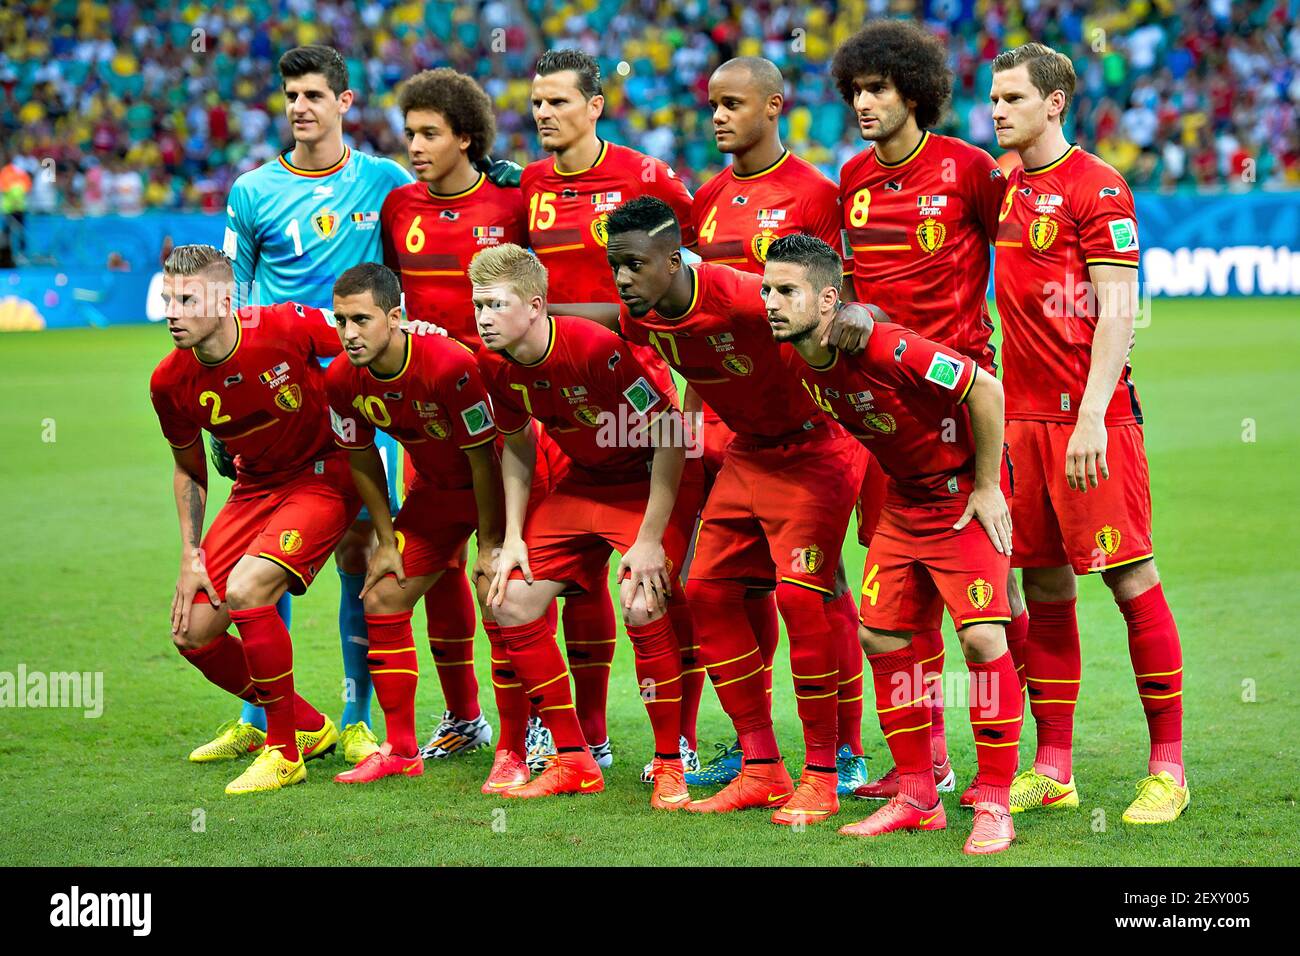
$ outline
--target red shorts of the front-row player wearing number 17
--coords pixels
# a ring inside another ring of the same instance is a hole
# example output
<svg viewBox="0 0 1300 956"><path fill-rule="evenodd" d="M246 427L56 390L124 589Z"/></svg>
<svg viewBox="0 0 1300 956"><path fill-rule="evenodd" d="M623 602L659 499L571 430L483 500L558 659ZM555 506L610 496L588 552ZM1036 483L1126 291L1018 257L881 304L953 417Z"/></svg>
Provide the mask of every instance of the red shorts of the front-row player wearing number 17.
<svg viewBox="0 0 1300 956"><path fill-rule="evenodd" d="M734 441L705 502L692 579L835 593L866 467L866 449L844 431L775 447Z"/></svg>

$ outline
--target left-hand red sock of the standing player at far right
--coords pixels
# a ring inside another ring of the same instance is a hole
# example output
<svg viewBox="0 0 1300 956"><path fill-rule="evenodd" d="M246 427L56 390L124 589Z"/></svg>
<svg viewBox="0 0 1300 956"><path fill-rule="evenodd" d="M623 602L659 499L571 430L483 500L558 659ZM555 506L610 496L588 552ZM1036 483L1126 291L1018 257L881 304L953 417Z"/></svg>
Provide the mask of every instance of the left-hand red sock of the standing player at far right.
<svg viewBox="0 0 1300 956"><path fill-rule="evenodd" d="M1074 709L1083 678L1075 601L1026 601L1026 605L1030 637L1024 676L1039 734L1034 769L1065 783L1074 774Z"/></svg>

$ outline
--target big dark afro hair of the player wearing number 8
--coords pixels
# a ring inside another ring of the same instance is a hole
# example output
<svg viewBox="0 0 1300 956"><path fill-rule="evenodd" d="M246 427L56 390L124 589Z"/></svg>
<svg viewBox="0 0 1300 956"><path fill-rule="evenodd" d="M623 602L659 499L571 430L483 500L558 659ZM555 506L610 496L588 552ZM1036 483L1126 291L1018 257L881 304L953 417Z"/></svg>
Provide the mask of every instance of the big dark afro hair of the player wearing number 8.
<svg viewBox="0 0 1300 956"><path fill-rule="evenodd" d="M872 74L892 81L905 100L916 104L923 130L939 122L953 92L944 44L909 20L867 21L835 52L831 75L845 103L853 104L853 81Z"/></svg>

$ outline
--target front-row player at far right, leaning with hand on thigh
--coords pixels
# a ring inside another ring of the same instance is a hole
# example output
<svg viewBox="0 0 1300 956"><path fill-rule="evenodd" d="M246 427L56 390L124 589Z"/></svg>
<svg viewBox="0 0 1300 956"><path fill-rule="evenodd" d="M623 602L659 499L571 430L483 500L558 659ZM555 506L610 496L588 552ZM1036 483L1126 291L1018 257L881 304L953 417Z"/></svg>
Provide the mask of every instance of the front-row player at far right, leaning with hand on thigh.
<svg viewBox="0 0 1300 956"><path fill-rule="evenodd" d="M767 317L786 364L828 415L871 449L889 476L862 580L862 645L871 663L880 730L898 767L898 793L854 836L942 830L930 752L930 702L913 635L937 628L944 606L970 669L979 790L967 853L1015 839L1008 793L1015 775L1024 697L1006 649L1002 589L1010 574L1011 515L1002 477L1002 386L974 359L878 323L859 355L823 346L838 307L840 255L811 235L768 247Z"/></svg>

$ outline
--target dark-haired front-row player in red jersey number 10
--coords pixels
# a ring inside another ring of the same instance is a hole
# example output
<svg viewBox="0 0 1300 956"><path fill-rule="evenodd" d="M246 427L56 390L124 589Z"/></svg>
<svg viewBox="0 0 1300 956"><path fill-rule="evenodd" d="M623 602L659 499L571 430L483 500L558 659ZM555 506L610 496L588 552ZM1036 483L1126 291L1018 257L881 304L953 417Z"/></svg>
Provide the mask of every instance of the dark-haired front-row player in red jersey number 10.
<svg viewBox="0 0 1300 956"><path fill-rule="evenodd" d="M396 276L378 263L354 265L334 284L334 317L347 362L332 364L325 382L334 440L351 451L352 479L378 540L361 596L370 635L370 679L387 732L378 750L334 778L341 783L424 773L415 736L419 661L412 609L424 596L426 614L434 617L428 594L441 576L463 563L476 532L473 572L486 597L493 553L502 540L497 428L473 351L454 338L403 332L400 297ZM377 429L395 437L415 466L396 520L389 511L387 477L374 449ZM473 635L473 611L469 620ZM488 633L494 646L500 644L490 620ZM498 749L498 762L510 765L512 782L523 783L528 779L520 756L528 701L517 684L498 692L498 708L502 739L517 736L514 749Z"/></svg>

